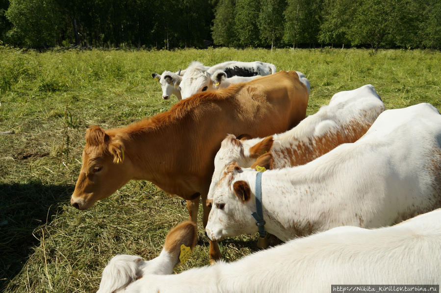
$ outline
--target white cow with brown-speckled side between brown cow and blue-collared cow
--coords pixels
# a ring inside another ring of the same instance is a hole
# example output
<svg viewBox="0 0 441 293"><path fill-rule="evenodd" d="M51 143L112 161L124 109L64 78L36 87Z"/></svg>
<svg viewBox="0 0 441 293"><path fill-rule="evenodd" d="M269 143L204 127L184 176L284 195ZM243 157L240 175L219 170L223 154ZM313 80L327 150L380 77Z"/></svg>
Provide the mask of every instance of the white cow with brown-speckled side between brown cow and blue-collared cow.
<svg viewBox="0 0 441 293"><path fill-rule="evenodd" d="M228 135L214 157L208 203L227 164L234 161L240 167L254 168L254 163L267 169L304 165L338 145L357 141L384 109L375 88L367 84L335 94L329 105L282 134L249 140ZM271 156L255 162L265 152ZM264 161L268 158L271 162Z"/></svg>

